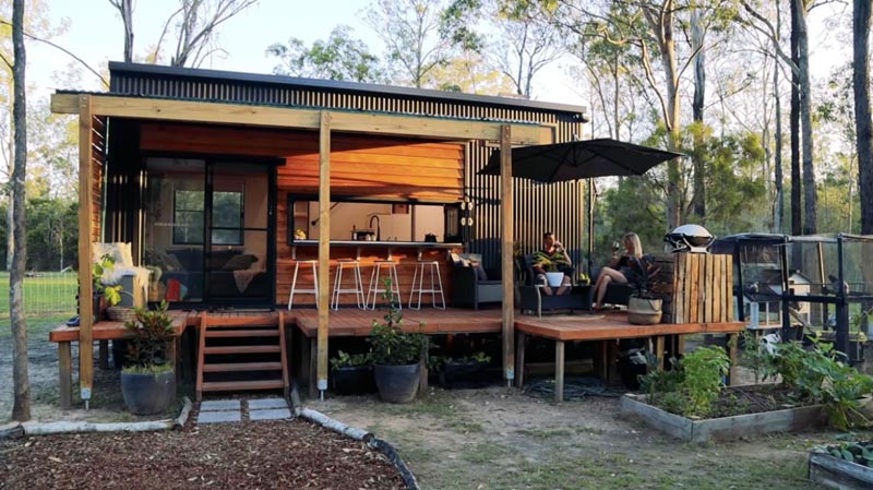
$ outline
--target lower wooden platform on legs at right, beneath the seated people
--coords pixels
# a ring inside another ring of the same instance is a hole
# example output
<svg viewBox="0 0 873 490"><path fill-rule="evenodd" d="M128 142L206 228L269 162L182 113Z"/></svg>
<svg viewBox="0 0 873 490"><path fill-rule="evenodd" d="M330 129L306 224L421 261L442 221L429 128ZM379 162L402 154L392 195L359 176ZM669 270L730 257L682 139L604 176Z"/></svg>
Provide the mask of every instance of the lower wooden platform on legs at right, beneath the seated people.
<svg viewBox="0 0 873 490"><path fill-rule="evenodd" d="M745 328L743 322L718 323L659 323L655 325L632 325L624 312L607 313L602 316L530 318L515 320L517 340L515 344L515 383L524 385L525 336L533 335L554 340L554 399L564 399L564 343L569 340L599 340L601 362L608 369L607 342L619 338L654 338L659 368L663 368L663 351L667 336L687 334L727 334L730 349L731 372L737 360L737 342L732 337ZM601 377L605 373L601 372ZM731 377L732 378L732 377Z"/></svg>

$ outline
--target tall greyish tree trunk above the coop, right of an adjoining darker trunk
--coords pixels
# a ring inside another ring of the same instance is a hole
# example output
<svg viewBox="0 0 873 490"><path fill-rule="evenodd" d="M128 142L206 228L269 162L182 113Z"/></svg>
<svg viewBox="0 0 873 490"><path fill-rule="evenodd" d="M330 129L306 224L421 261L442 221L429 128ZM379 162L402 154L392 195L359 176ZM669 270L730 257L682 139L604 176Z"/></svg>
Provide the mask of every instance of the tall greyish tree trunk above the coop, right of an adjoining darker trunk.
<svg viewBox="0 0 873 490"><path fill-rule="evenodd" d="M812 87L810 85L809 34L804 0L798 3L798 71L800 72L800 126L803 146L803 235L816 232L815 163L812 141Z"/></svg>

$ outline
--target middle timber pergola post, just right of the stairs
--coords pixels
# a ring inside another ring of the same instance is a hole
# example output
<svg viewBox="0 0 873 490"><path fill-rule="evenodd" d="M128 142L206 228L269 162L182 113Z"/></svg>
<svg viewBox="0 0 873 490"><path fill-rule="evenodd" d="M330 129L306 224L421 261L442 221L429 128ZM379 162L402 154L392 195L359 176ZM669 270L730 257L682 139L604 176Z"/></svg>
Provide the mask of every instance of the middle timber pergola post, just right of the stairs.
<svg viewBox="0 0 873 490"><path fill-rule="evenodd" d="M331 302L331 113L322 111L319 124L319 392L327 390L327 327Z"/></svg>

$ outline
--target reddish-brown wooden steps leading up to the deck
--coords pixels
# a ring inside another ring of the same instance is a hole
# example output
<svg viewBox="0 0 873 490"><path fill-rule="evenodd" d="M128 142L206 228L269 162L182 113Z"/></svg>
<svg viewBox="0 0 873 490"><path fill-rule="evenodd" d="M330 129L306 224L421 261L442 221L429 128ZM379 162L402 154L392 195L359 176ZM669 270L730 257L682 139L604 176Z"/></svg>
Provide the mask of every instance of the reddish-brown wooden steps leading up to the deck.
<svg viewBox="0 0 873 490"><path fill-rule="evenodd" d="M278 390L288 396L285 316L200 316L198 402L203 392Z"/></svg>

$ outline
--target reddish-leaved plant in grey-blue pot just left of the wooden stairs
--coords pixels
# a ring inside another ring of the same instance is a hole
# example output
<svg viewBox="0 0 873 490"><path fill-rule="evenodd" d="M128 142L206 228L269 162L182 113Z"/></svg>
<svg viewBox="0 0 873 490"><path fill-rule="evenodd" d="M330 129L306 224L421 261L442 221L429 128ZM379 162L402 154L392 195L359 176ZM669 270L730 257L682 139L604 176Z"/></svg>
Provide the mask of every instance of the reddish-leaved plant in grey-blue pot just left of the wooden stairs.
<svg viewBox="0 0 873 490"><path fill-rule="evenodd" d="M128 343L128 364L121 370L121 394L131 413L159 414L176 395L176 371L169 358L172 320L166 301L153 310L136 308L135 315L124 322L133 337Z"/></svg>

